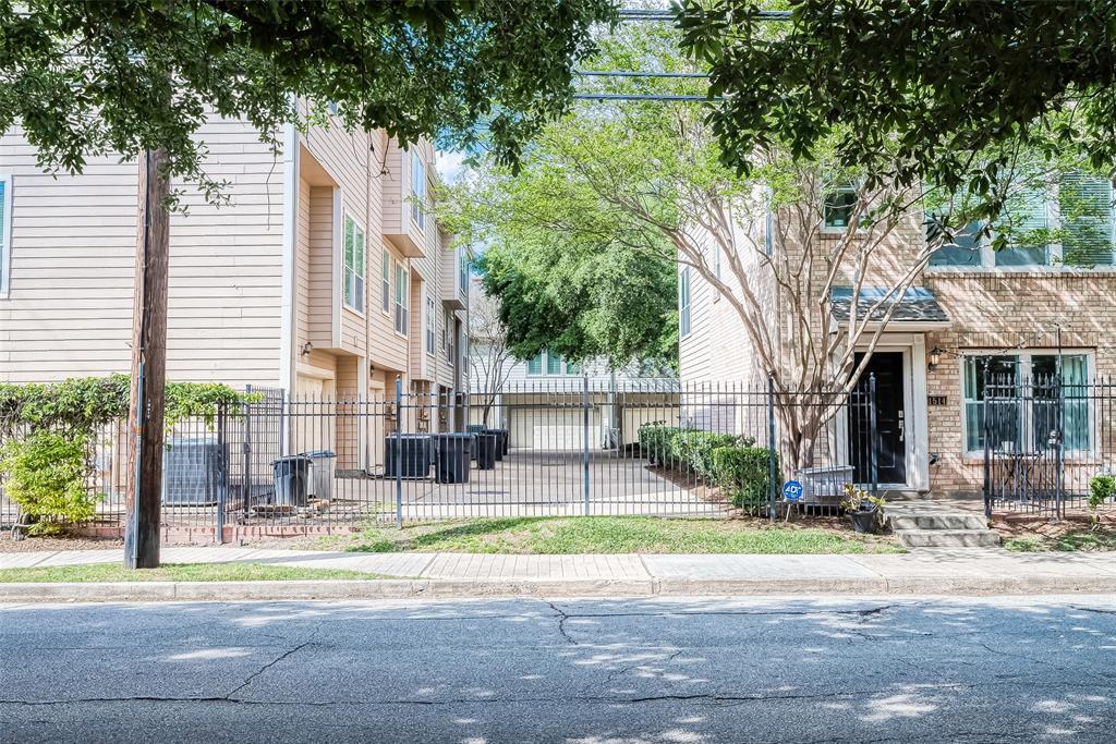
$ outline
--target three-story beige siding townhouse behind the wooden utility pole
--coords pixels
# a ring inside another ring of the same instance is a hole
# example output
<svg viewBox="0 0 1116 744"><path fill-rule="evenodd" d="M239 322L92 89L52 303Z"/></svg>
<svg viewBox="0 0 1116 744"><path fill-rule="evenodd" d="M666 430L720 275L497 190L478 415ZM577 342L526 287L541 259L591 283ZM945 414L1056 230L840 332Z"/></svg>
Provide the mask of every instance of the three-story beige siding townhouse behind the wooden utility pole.
<svg viewBox="0 0 1116 744"><path fill-rule="evenodd" d="M186 210L171 220L169 378L296 399L394 397L401 379L431 402L408 425L451 427L436 402L468 384L468 257L429 209L432 146L289 126L272 153L248 125L221 119L198 137L206 171L228 182L228 203L182 186ZM18 129L0 137L0 381L127 371L136 191L134 163L102 157L83 175L55 175ZM349 465L372 467L375 435L319 438Z"/></svg>

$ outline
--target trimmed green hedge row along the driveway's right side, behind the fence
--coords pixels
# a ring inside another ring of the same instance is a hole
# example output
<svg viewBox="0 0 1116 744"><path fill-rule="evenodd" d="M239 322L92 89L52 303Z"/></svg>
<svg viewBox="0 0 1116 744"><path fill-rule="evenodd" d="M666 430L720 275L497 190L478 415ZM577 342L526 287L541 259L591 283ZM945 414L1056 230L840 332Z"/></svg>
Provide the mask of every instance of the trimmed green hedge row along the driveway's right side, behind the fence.
<svg viewBox="0 0 1116 744"><path fill-rule="evenodd" d="M734 506L751 511L768 502L771 453L751 437L645 424L639 450L652 464L687 470L716 485Z"/></svg>

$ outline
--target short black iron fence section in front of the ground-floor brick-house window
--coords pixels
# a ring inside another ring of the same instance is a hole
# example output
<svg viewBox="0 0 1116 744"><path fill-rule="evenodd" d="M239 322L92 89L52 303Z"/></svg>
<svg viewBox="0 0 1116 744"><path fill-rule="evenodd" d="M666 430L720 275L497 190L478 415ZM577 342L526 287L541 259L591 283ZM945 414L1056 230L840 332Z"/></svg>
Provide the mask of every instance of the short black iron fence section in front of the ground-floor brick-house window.
<svg viewBox="0 0 1116 744"><path fill-rule="evenodd" d="M966 404L965 415L981 432L989 514L1010 509L1064 518L1067 509L1087 505L1093 493L1116 495L1110 378L984 370L978 393L981 399Z"/></svg>

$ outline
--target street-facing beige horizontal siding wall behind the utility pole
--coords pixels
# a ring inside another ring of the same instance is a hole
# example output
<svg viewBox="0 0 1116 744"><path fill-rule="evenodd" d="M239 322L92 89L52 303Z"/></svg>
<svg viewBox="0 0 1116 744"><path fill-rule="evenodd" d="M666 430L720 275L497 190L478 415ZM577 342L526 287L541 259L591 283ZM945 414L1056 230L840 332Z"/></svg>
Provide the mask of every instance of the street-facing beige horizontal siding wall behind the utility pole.
<svg viewBox="0 0 1116 744"><path fill-rule="evenodd" d="M257 134L214 120L199 137L229 204L189 184L171 219L167 374L277 384L282 168ZM0 380L126 371L136 241L137 168L93 158L80 176L40 171L18 131L0 137L13 175L11 291L0 300Z"/></svg>

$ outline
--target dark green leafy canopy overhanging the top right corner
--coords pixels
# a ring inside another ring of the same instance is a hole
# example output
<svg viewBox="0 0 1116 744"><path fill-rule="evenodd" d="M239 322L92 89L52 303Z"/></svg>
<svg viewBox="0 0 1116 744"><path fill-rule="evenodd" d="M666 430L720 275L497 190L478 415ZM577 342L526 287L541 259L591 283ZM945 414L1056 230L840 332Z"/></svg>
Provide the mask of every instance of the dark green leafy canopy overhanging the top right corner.
<svg viewBox="0 0 1116 744"><path fill-rule="evenodd" d="M677 22L721 97L709 120L730 166L777 144L814 157L836 137L868 177L964 184L992 219L1019 147L1116 162L1114 13L1113 0L682 0Z"/></svg>

